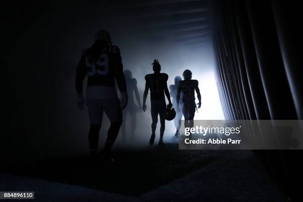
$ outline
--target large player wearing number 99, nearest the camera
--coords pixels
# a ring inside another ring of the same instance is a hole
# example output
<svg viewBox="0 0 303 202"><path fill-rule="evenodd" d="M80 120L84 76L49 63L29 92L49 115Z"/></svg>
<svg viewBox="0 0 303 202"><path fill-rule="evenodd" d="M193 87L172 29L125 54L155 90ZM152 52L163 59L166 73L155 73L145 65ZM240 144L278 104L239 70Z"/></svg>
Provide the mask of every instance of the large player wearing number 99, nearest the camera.
<svg viewBox="0 0 303 202"><path fill-rule="evenodd" d="M118 135L122 123L122 110L127 105L126 83L123 74L120 50L111 45L108 32L100 30L95 36L93 46L84 51L76 73L76 90L78 94L77 104L80 109L86 102L89 118L89 144L91 155L97 157L99 131L101 128L103 111L110 120L105 146L101 156L114 162L110 157L110 151ZM86 101L83 98L83 80L88 76ZM123 95L121 104L115 90L115 82Z"/></svg>

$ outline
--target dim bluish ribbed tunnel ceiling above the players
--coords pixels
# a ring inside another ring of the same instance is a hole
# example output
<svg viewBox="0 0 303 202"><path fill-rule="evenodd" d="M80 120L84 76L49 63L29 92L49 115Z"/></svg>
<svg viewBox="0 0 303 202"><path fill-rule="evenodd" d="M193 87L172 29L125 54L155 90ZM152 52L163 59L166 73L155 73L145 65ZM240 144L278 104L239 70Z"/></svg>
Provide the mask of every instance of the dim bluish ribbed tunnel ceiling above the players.
<svg viewBox="0 0 303 202"><path fill-rule="evenodd" d="M107 9L117 10L124 26L136 27L150 40L186 47L200 47L210 41L213 12L207 0L111 1Z"/></svg>

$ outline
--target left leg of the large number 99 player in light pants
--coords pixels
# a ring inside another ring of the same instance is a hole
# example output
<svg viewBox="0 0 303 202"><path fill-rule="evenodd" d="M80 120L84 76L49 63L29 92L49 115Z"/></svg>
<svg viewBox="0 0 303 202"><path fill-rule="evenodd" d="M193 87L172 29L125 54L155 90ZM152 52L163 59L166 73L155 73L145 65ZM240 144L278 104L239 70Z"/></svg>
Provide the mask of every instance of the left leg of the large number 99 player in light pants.
<svg viewBox="0 0 303 202"><path fill-rule="evenodd" d="M103 108L98 99L87 99L86 101L89 118L90 118L90 131L88 135L90 154L92 157L97 157L99 132L101 128Z"/></svg>

